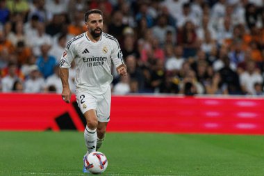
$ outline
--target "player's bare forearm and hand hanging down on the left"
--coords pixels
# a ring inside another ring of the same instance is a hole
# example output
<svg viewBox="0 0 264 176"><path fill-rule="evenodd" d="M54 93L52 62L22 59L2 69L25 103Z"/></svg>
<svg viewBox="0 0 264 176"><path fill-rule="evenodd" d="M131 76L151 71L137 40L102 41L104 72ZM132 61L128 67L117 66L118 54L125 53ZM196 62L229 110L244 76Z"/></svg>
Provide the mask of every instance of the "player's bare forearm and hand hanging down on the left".
<svg viewBox="0 0 264 176"><path fill-rule="evenodd" d="M63 83L63 92L61 93L61 96L63 97L63 100L66 103L69 103L72 96L72 91L69 88L69 69L60 67L60 79L61 83Z"/></svg>

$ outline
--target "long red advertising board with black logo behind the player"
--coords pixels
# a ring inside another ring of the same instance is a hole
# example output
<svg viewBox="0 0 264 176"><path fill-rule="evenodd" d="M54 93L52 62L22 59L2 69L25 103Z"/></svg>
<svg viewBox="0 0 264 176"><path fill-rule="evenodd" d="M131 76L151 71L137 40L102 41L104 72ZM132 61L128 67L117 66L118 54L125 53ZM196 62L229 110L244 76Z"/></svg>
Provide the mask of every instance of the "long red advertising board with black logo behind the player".
<svg viewBox="0 0 264 176"><path fill-rule="evenodd" d="M113 96L108 131L264 134L264 99L245 97ZM83 131L74 95L0 94L0 130Z"/></svg>

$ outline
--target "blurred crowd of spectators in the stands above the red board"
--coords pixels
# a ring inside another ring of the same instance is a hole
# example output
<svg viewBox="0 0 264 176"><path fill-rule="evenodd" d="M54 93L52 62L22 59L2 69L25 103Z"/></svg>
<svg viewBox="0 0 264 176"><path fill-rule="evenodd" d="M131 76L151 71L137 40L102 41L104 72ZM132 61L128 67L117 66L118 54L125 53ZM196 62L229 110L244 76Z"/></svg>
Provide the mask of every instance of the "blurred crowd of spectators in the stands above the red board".
<svg viewBox="0 0 264 176"><path fill-rule="evenodd" d="M128 67L114 94L263 95L263 0L0 0L0 92L61 93L60 56L91 8Z"/></svg>

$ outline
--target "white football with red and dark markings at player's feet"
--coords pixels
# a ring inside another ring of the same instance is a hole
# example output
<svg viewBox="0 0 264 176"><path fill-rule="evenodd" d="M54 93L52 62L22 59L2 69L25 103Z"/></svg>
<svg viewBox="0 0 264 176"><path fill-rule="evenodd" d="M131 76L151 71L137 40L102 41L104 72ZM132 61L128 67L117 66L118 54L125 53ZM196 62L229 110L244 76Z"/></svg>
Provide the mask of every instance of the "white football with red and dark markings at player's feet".
<svg viewBox="0 0 264 176"><path fill-rule="evenodd" d="M106 155L102 152L91 152L85 158L85 168L92 174L104 173L108 166Z"/></svg>

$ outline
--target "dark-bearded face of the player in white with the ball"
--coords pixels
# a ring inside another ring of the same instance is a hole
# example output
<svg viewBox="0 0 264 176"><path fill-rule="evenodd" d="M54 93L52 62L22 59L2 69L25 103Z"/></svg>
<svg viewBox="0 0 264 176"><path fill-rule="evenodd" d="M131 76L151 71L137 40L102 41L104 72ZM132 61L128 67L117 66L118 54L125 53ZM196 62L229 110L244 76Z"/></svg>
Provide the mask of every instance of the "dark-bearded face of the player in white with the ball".
<svg viewBox="0 0 264 176"><path fill-rule="evenodd" d="M98 38L103 29L103 17L98 13L90 14L86 26L92 37Z"/></svg>

